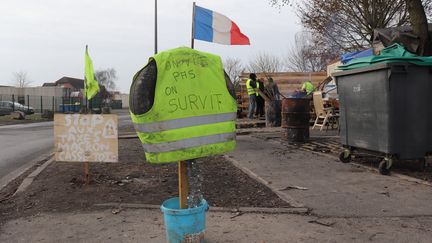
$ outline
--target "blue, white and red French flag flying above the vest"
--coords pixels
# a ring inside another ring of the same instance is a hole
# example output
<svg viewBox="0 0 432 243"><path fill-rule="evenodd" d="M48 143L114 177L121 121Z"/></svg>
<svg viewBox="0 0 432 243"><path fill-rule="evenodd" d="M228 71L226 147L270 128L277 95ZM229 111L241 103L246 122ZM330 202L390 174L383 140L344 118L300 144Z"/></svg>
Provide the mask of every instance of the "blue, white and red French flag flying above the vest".
<svg viewBox="0 0 432 243"><path fill-rule="evenodd" d="M250 45L249 38L226 16L195 6L194 38L224 45Z"/></svg>

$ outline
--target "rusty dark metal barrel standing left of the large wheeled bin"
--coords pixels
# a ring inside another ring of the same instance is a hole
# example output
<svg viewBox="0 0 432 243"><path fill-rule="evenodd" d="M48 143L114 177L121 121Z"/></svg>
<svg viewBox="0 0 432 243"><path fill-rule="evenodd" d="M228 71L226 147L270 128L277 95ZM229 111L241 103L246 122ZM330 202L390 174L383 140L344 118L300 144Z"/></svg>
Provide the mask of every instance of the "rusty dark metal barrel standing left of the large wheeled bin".
<svg viewBox="0 0 432 243"><path fill-rule="evenodd" d="M309 139L310 99L284 98L282 100L283 137L291 142Z"/></svg>

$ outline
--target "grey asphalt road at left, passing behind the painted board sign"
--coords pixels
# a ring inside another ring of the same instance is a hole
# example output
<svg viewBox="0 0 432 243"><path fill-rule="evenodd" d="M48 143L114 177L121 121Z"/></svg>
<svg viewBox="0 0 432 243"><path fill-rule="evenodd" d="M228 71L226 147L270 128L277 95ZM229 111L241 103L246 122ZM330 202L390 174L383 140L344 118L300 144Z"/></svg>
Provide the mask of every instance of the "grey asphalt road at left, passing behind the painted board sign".
<svg viewBox="0 0 432 243"><path fill-rule="evenodd" d="M127 110L116 111L119 128L131 123ZM0 181L53 149L53 122L0 126Z"/></svg>

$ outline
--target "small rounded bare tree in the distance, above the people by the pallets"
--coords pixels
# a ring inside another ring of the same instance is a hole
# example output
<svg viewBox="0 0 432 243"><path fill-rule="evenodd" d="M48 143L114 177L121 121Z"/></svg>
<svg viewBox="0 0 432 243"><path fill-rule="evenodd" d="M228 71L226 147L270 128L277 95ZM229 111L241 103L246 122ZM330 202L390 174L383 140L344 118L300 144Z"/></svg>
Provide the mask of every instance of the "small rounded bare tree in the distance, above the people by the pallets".
<svg viewBox="0 0 432 243"><path fill-rule="evenodd" d="M279 57L261 52L249 62L248 69L255 73L274 73L283 68L282 61Z"/></svg>

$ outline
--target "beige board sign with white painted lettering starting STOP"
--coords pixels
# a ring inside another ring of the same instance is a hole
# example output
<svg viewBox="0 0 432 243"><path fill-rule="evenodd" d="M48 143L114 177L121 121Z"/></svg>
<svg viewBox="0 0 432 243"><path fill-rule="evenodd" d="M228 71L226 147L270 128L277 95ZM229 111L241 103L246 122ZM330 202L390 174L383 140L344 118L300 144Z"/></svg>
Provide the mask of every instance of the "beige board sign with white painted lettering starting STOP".
<svg viewBox="0 0 432 243"><path fill-rule="evenodd" d="M57 161L118 162L117 115L55 114Z"/></svg>

